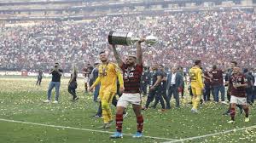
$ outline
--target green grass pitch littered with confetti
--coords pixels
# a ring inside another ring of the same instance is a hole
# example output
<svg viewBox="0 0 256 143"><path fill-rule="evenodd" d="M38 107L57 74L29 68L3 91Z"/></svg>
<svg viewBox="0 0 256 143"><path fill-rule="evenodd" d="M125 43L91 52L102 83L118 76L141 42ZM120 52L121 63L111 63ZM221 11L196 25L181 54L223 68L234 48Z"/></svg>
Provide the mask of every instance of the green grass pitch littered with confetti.
<svg viewBox="0 0 256 143"><path fill-rule="evenodd" d="M92 101L91 94L84 94L83 79L79 79L77 102L69 101L68 79L63 78L60 103L45 104L49 80L43 78L38 87L36 78L0 77L0 143L256 142L255 106L250 106L249 123L244 123L244 114L236 113L236 123L228 124L230 117L222 115L227 105L209 102L201 105L199 114L193 114L189 95L182 100L180 109L143 112L142 139L131 137L137 123L130 106L123 124L124 138L111 140L109 135L115 131L114 124L111 129L97 128L102 125L102 118L91 117L98 105ZM113 106L112 109L114 115Z"/></svg>

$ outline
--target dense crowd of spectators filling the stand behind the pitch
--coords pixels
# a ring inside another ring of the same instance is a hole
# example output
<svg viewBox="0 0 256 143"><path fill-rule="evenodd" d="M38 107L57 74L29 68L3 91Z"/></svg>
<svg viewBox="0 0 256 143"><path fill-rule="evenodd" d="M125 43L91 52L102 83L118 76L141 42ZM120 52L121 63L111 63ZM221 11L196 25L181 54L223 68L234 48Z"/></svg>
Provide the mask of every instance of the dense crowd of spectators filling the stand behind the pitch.
<svg viewBox="0 0 256 143"><path fill-rule="evenodd" d="M226 66L230 60L237 60L243 67L256 66L256 13L252 9L234 9L109 15L96 20L41 21L29 26L2 23L0 69L47 70L55 61L64 70L73 63L82 69L98 60L100 51L110 51L108 32L112 30L159 38L159 43L143 46L145 66L157 62L189 67L196 59L201 59L203 66ZM119 52L124 56L132 54L135 47L119 46Z"/></svg>

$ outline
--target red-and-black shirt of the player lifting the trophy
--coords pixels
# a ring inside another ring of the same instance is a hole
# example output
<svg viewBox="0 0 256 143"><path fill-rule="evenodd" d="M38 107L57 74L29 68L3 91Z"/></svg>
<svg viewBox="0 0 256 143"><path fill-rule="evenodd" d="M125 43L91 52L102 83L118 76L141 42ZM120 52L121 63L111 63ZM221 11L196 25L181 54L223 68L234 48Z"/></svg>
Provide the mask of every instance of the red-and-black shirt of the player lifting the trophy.
<svg viewBox="0 0 256 143"><path fill-rule="evenodd" d="M121 66L124 77L124 93L140 93L140 82L143 75L143 65L136 65L131 70L126 64Z"/></svg>

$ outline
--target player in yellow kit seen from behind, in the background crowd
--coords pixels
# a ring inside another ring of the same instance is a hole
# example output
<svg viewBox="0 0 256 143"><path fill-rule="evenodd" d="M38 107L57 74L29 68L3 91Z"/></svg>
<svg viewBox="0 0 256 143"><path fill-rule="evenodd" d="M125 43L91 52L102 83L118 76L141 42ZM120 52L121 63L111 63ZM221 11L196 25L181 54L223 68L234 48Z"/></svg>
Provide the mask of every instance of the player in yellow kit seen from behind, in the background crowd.
<svg viewBox="0 0 256 143"><path fill-rule="evenodd" d="M204 84L202 81L201 60L195 60L195 66L193 66L189 70L189 77L191 81L191 89L193 94L193 107L191 109L191 112L198 112L197 107L201 100L202 90L204 89Z"/></svg>

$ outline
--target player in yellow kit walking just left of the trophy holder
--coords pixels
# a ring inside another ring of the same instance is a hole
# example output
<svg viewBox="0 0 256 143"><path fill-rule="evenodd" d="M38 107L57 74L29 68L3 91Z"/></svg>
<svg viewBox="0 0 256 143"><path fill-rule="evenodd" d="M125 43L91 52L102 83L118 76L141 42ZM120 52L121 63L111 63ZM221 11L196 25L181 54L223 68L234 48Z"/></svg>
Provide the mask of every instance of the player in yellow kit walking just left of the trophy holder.
<svg viewBox="0 0 256 143"><path fill-rule="evenodd" d="M125 88L122 72L120 72L119 67L113 62L108 61L108 55L105 52L100 53L100 60L102 60L102 64L99 66L99 76L90 87L90 91L98 83L101 83L99 96L102 102L102 117L104 119L102 128L108 129L113 122L110 105L117 91L117 77L119 79L120 92L122 93Z"/></svg>

